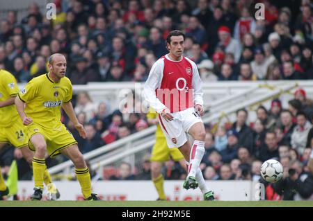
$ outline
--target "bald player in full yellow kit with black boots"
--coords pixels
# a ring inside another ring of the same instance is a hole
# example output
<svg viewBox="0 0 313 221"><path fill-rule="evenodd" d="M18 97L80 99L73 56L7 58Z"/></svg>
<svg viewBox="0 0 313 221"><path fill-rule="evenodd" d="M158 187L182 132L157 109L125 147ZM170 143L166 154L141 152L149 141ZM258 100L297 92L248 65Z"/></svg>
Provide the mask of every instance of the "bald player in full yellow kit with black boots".
<svg viewBox="0 0 313 221"><path fill-rule="evenodd" d="M64 154L71 159L84 199L99 200L96 194L91 193L89 169L83 159L83 154L79 152L77 141L61 123L62 107L79 131L79 135L86 138L86 131L74 114L71 103L72 84L65 77L65 71L65 57L59 53L51 55L49 72L33 78L15 99L19 116L26 125L29 148L35 151L33 157L35 192L31 195L31 200L41 200L42 198L46 152L50 157Z"/></svg>

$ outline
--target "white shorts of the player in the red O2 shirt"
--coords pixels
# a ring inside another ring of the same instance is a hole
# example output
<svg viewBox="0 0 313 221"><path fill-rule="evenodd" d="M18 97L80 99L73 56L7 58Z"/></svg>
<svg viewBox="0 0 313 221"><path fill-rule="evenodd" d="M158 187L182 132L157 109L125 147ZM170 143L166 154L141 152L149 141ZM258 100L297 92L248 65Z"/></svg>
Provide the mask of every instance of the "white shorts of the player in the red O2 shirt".
<svg viewBox="0 0 313 221"><path fill-rule="evenodd" d="M202 122L202 119L195 108L191 107L183 110L182 112L171 113L174 117L172 121L166 121L161 114L159 114L159 123L166 136L166 142L168 148L179 148L186 141L188 141L187 132L192 125L198 122ZM176 139L176 143L172 142L172 139Z"/></svg>

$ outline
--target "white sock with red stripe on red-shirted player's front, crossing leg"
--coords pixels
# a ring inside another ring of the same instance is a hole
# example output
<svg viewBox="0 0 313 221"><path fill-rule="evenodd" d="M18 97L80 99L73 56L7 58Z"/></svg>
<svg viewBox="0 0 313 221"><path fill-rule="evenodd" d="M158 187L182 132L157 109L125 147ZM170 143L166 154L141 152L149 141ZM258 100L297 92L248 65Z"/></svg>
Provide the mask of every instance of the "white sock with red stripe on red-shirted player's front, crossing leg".
<svg viewBox="0 0 313 221"><path fill-rule="evenodd" d="M190 152L190 158L188 166L188 175L187 177L195 177L197 170L202 161L202 157L204 155L204 141L193 141L193 146Z"/></svg>

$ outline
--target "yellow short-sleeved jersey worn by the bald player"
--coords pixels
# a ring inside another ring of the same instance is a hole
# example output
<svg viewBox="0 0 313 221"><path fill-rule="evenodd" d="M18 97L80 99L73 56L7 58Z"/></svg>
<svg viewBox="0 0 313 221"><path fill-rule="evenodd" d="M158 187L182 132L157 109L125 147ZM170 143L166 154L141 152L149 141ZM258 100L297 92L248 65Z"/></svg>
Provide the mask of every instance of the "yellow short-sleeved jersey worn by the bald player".
<svg viewBox="0 0 313 221"><path fill-rule="evenodd" d="M19 92L19 98L26 103L25 114L33 123L46 128L55 128L61 123L61 107L72 100L72 83L67 77L54 82L48 73L33 78Z"/></svg>

